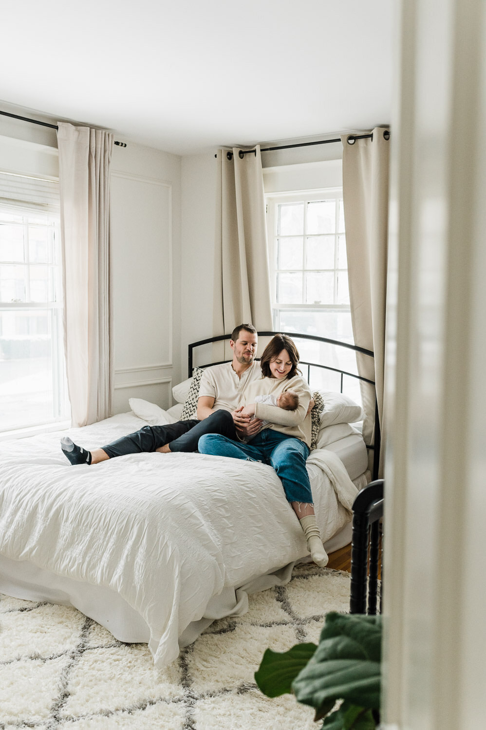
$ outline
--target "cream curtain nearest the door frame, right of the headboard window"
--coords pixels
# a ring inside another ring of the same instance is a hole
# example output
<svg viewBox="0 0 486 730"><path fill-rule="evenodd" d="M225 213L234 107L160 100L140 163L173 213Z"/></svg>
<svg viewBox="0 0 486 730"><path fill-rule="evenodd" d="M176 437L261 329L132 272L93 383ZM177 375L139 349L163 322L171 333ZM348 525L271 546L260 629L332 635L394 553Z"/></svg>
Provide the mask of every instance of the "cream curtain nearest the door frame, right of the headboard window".
<svg viewBox="0 0 486 730"><path fill-rule="evenodd" d="M357 356L358 372L376 383L381 442L384 443L384 342L387 301L389 131L376 127L373 137L343 142L343 201L348 257L349 298L354 342L373 350L374 360ZM363 435L374 442L375 396L362 385ZM383 454L381 449L380 475Z"/></svg>

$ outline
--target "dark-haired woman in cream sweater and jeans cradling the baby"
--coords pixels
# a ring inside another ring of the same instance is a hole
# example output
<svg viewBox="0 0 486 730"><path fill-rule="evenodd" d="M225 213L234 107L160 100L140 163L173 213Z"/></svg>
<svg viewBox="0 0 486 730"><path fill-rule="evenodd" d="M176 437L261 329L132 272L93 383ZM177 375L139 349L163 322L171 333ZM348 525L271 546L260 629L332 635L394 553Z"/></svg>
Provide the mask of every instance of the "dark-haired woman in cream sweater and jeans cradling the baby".
<svg viewBox="0 0 486 730"><path fill-rule="evenodd" d="M220 434L200 437L200 453L230 456L248 461L262 461L276 470L307 539L311 557L319 566L327 564L316 523L311 483L305 469L305 460L311 445L311 391L299 374L299 353L290 337L276 334L262 354L262 378L251 383L245 394L246 405L242 415L256 416L270 421L249 443L242 443ZM273 405L252 401L256 396L273 395L292 390L299 402L295 410L283 410Z"/></svg>

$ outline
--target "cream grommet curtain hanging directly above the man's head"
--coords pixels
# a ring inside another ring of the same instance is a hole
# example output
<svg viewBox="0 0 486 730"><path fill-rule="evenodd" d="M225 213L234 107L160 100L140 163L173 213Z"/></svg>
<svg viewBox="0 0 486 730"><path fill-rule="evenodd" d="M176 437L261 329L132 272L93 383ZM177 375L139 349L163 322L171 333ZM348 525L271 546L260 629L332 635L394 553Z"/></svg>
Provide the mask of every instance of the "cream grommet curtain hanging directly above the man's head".
<svg viewBox="0 0 486 730"><path fill-rule="evenodd" d="M221 207L216 220L215 321L218 333L243 322L271 330L270 273L259 146L218 151Z"/></svg>

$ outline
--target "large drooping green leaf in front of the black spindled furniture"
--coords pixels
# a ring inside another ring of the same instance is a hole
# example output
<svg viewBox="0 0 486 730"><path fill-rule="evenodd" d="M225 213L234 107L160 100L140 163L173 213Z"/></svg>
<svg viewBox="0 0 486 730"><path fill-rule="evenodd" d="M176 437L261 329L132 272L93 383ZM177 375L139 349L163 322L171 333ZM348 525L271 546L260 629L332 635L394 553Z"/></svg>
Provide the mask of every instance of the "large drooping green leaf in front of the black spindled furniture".
<svg viewBox="0 0 486 730"><path fill-rule="evenodd" d="M316 708L318 717L338 699L378 710L380 662L381 617L330 613L319 646L292 690L299 702Z"/></svg>

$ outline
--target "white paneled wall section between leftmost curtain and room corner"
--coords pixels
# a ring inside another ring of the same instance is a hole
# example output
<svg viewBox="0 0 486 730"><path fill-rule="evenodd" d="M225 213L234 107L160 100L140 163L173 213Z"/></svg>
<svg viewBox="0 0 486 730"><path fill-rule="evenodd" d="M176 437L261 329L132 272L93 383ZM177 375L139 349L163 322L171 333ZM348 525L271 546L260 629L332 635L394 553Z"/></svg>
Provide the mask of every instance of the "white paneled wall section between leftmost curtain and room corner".
<svg viewBox="0 0 486 730"><path fill-rule="evenodd" d="M181 158L130 142L111 171L113 410L130 397L167 408L180 374Z"/></svg>

